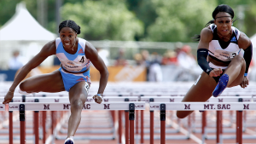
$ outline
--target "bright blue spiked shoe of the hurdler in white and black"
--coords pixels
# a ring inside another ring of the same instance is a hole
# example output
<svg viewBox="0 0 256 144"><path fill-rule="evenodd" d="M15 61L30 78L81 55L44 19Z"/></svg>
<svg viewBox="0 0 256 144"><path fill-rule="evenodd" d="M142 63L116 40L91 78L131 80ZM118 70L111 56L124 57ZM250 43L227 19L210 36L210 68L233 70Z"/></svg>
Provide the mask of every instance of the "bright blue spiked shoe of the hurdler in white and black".
<svg viewBox="0 0 256 144"><path fill-rule="evenodd" d="M224 91L224 89L226 89L228 83L229 83L229 75L225 73L219 78L218 84L213 90L212 95L214 97L218 97L218 95L220 95Z"/></svg>

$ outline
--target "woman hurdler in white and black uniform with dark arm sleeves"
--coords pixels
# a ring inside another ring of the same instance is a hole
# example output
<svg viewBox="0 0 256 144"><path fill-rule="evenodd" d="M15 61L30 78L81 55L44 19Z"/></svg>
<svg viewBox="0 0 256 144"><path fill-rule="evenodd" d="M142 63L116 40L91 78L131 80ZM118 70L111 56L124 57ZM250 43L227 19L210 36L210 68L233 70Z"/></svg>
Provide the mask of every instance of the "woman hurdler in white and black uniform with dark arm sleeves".
<svg viewBox="0 0 256 144"><path fill-rule="evenodd" d="M218 5L212 12L211 24L201 31L197 60L204 72L189 89L183 101L207 101L217 97L226 87L248 85L247 71L252 60L250 39L232 26L234 11L228 5ZM239 55L240 50L245 51ZM177 111L177 118L185 118L193 111Z"/></svg>

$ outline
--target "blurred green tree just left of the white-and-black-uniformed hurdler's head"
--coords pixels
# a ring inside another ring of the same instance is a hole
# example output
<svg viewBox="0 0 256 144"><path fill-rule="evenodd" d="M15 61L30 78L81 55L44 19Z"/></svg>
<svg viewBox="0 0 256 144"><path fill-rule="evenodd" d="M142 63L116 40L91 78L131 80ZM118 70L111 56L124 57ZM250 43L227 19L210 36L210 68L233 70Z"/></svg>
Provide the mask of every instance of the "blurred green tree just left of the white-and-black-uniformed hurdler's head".
<svg viewBox="0 0 256 144"><path fill-rule="evenodd" d="M216 1L151 0L159 15L148 27L147 41L189 42L212 20Z"/></svg>

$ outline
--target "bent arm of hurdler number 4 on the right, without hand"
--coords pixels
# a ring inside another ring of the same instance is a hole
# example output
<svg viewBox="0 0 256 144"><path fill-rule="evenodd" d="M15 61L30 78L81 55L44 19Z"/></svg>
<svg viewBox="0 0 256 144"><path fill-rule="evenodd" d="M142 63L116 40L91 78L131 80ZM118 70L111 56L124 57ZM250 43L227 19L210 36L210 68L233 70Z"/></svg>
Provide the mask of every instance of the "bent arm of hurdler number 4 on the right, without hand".
<svg viewBox="0 0 256 144"><path fill-rule="evenodd" d="M106 88L106 85L108 83L108 68L91 43L86 42L84 53L86 57L90 59L91 63L96 67L96 69L101 73L98 94L103 94L104 89Z"/></svg>

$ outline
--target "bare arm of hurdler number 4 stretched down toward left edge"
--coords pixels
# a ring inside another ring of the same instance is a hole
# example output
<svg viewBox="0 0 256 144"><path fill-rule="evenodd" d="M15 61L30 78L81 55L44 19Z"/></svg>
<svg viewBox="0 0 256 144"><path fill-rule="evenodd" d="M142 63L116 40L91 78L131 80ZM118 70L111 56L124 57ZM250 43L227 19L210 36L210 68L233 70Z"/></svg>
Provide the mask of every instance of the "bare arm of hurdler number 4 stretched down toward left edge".
<svg viewBox="0 0 256 144"><path fill-rule="evenodd" d="M55 55L55 40L44 45L43 49L35 55L32 60L29 60L25 66L20 69L14 83L9 88L9 92L5 95L3 104L9 103L13 96L15 88L20 82L26 78L26 75L35 67L39 66L49 55Z"/></svg>

